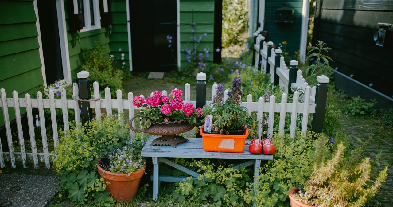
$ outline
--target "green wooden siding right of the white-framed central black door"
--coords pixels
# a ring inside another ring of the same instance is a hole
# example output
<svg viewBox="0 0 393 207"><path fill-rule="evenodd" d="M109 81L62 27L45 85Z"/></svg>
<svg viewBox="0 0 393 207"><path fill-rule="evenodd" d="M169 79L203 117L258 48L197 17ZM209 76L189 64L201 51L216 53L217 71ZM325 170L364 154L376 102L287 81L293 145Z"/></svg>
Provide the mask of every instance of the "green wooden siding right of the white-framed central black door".
<svg viewBox="0 0 393 207"><path fill-rule="evenodd" d="M204 48L213 51L214 37L214 0L180 0L180 64L181 68L187 66L186 53L181 50L191 44L191 23L195 23L195 36L202 35L197 51L203 52ZM206 37L204 37L206 33ZM192 49L192 46L188 47ZM207 58L208 63L213 62L213 53Z"/></svg>

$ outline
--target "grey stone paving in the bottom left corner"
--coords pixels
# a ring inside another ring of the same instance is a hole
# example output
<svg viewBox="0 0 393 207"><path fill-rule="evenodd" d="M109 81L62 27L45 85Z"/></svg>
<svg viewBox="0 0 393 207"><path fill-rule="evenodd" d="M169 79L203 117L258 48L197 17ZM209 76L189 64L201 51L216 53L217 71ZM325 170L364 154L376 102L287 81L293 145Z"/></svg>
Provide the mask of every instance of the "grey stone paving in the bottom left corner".
<svg viewBox="0 0 393 207"><path fill-rule="evenodd" d="M59 181L58 176L0 174L0 206L45 207Z"/></svg>

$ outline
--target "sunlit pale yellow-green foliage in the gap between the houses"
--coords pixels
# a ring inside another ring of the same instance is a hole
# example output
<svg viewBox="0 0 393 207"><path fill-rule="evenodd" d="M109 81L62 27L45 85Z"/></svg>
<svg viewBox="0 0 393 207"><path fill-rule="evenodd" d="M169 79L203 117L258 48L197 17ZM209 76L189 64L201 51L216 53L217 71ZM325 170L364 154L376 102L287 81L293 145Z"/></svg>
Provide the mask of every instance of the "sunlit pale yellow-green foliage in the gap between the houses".
<svg viewBox="0 0 393 207"><path fill-rule="evenodd" d="M241 36L247 31L246 0L222 1L222 46L242 43Z"/></svg>

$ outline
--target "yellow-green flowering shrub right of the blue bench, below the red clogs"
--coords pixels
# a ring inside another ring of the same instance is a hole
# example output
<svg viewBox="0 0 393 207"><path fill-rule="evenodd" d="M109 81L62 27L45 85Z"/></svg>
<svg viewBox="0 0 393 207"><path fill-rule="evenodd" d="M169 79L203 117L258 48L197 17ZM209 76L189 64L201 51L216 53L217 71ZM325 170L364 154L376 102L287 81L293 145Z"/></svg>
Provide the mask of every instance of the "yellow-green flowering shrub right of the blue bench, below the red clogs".
<svg viewBox="0 0 393 207"><path fill-rule="evenodd" d="M295 186L307 184L314 163L329 157L332 145L325 136L314 140L312 134L297 134L294 141L288 135L273 137L275 154L273 160L261 165L257 178L257 194L249 185L244 201L258 207L288 206L288 191Z"/></svg>

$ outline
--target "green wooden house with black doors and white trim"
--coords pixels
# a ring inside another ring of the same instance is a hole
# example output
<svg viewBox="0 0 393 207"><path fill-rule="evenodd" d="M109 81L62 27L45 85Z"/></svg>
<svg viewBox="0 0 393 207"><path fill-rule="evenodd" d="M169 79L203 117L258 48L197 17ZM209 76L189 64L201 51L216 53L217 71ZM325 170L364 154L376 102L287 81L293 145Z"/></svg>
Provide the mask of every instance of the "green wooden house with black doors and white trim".
<svg viewBox="0 0 393 207"><path fill-rule="evenodd" d="M221 0L2 0L0 88L23 97L59 79L75 82L81 48L95 41L126 70L184 67L190 36L203 36L198 51L221 48L221 10ZM208 61L220 59L215 52Z"/></svg>

